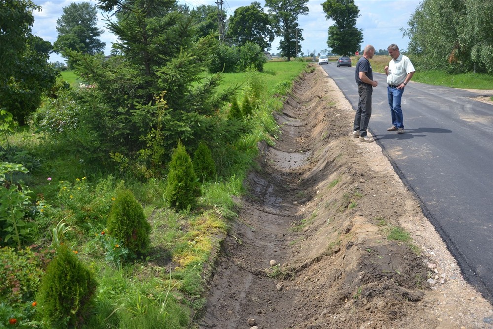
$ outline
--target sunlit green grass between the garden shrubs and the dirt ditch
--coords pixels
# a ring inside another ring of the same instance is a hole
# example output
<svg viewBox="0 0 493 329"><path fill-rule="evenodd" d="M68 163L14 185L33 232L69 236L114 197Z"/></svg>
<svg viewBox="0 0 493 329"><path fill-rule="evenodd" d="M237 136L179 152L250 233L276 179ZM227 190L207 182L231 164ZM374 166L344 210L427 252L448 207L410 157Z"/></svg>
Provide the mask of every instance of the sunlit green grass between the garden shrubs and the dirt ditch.
<svg viewBox="0 0 493 329"><path fill-rule="evenodd" d="M293 80L306 66L298 61L276 61L266 63L263 73L224 74L221 88L243 83L240 93L260 90L260 98L247 118L252 127L250 133L229 154L218 155L223 168L219 170L218 181L202 185L199 206L194 211L177 213L164 206L165 179L141 182L124 172L115 173L111 166L98 167L82 161L84 141L90 140L83 133L59 141L50 135L19 129L8 137L10 145L25 152L23 159L31 162L39 159L42 164L24 180L33 191L33 203L37 201L37 207L42 209L42 216L36 218L39 223L32 242L49 245L49 232L65 218L67 225L75 228L65 234L64 243L77 250L79 259L96 275L94 309L83 328L192 326L193 315L205 303L205 279L211 270L211 266L205 265L213 261L213 253L220 248L231 220L237 216L238 206L233 197L245 193L243 181L254 166L257 142L275 143L279 127L272 113L282 108ZM62 74L72 86L78 87L75 74L70 71ZM6 143L2 137L0 145ZM108 240L103 234L108 203L111 204L119 184L133 192L152 227L150 251L136 259L122 260L112 255L114 251L107 249ZM77 226L77 220L84 221L83 225ZM313 216L306 220L313 220ZM116 263L115 259L121 262ZM19 312L23 311L19 308ZM44 324L36 328L48 327Z"/></svg>

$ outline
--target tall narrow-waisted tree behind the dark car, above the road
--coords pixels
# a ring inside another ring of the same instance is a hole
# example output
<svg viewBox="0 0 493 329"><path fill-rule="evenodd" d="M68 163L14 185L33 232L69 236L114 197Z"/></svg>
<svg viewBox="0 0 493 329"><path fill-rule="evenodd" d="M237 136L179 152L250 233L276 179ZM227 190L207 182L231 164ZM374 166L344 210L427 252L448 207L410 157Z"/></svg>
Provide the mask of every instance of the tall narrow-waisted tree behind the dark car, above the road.
<svg viewBox="0 0 493 329"><path fill-rule="evenodd" d="M326 0L322 3L322 8L327 19L334 21L334 25L329 27L327 39L332 52L349 55L359 50L363 32L356 28L359 9L354 0Z"/></svg>

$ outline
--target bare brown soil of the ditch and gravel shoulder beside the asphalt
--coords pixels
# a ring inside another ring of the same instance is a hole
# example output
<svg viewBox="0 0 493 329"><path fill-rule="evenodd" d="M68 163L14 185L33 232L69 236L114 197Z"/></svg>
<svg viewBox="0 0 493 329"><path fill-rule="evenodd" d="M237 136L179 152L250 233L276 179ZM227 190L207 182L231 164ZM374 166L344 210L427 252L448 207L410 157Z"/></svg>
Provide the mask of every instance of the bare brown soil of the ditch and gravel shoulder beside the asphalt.
<svg viewBox="0 0 493 329"><path fill-rule="evenodd" d="M380 146L352 138L353 119L317 65L296 82L238 201L199 328L493 328L492 305ZM398 227L412 240L389 239Z"/></svg>

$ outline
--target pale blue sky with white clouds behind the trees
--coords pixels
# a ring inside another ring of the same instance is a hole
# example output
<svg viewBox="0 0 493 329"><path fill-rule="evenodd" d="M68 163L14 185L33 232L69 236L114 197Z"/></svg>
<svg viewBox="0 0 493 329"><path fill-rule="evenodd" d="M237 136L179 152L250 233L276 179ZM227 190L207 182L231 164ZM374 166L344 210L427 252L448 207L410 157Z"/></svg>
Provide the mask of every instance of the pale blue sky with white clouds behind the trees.
<svg viewBox="0 0 493 329"><path fill-rule="evenodd" d="M180 3L186 3L189 7L195 7L201 4L216 5L217 0L180 0ZM301 42L301 50L316 50L318 53L322 49L328 49L327 30L333 24L333 21L327 20L322 10L321 4L325 0L309 0L309 13L306 16L300 16L298 22L303 29L304 41ZM51 43L55 42L58 35L56 30L56 21L62 15L63 8L70 5L71 2L91 2L97 4L94 0L74 1L74 0L34 0L35 4L42 7L41 12L35 12L35 21L32 32ZM232 15L236 8L249 5L252 1L244 0L224 0L223 9L228 16ZM257 0L263 6L263 0ZM366 44L372 44L377 50L387 49L391 43L395 43L401 50L406 49L409 39L402 36L401 28L408 28L407 22L419 5L420 0L355 0L359 7L360 17L356 27L363 30L363 48ZM105 29L103 15L99 14L98 26ZM115 42L116 37L106 29L101 36L101 41L106 43L105 54L109 54L111 43ZM274 40L271 53L277 53L279 40ZM60 55L52 54L50 61L63 62Z"/></svg>

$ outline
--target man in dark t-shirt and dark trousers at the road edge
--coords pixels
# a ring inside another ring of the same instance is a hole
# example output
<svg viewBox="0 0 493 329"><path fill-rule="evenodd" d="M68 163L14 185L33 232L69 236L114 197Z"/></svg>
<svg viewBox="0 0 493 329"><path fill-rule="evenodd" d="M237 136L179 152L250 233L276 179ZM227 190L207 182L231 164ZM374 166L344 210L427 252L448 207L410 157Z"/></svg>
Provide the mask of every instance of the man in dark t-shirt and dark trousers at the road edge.
<svg viewBox="0 0 493 329"><path fill-rule="evenodd" d="M378 85L377 81L373 81L373 71L371 69L369 59L375 55L375 48L372 45L367 45L363 51L363 56L356 64L356 83L358 84L358 109L354 117L354 131L352 137L359 138L361 142L373 142L373 138L368 137L366 129L371 117L371 95L373 87Z"/></svg>

